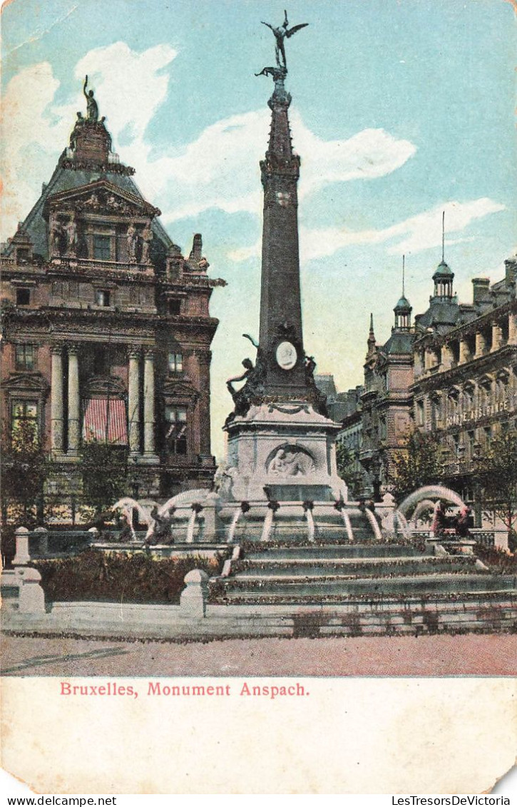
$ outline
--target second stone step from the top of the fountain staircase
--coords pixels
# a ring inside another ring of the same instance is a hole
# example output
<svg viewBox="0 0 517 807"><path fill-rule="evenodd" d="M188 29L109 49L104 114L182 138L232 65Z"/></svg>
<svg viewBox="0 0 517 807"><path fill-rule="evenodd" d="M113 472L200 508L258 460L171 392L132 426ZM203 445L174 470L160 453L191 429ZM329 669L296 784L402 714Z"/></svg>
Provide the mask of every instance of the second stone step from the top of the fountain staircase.
<svg viewBox="0 0 517 807"><path fill-rule="evenodd" d="M298 577L383 577L386 575L423 575L442 572L444 574L472 573L488 574L487 570L476 569L473 555L463 557L416 558L252 558L237 562L232 567L232 577L236 578L285 578Z"/></svg>

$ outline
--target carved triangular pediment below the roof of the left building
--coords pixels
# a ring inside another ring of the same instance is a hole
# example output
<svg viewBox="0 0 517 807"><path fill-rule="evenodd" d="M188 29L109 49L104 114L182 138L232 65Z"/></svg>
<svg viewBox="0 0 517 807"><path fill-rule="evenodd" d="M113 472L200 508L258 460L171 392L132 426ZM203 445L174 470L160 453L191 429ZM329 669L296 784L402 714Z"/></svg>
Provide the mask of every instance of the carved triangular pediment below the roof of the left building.
<svg viewBox="0 0 517 807"><path fill-rule="evenodd" d="M106 179L52 194L47 199L45 210L47 215L49 211L77 211L83 215L145 216L150 218L161 215L161 211L146 202L145 199L140 199L130 191L122 190Z"/></svg>

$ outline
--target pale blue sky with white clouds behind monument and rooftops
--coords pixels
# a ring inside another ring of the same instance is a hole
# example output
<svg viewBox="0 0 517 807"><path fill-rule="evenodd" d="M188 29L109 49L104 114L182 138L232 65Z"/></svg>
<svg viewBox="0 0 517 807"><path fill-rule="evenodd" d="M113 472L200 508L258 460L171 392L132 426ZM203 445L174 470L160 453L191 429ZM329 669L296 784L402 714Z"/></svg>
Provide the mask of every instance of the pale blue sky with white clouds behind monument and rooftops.
<svg viewBox="0 0 517 807"><path fill-rule="evenodd" d="M216 289L212 449L258 335L261 180L277 0L10 0L2 10L0 237L15 232L85 111L90 77L121 161L188 254L202 232ZM292 0L287 40L304 341L340 390L362 382L369 313L390 335L441 259L461 302L515 253L515 2ZM254 356L252 356L254 358Z"/></svg>

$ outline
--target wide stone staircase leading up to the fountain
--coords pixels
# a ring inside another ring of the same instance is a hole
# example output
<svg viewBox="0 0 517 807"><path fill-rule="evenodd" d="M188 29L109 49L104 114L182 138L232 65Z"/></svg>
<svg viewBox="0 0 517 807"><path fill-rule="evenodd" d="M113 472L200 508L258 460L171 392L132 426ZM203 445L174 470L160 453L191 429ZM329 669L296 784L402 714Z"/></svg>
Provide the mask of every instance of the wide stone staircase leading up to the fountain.
<svg viewBox="0 0 517 807"><path fill-rule="evenodd" d="M515 583L472 554L371 541L246 544L230 574L211 580L210 604L235 606L228 616L291 620L294 635L493 632L517 628Z"/></svg>

